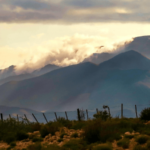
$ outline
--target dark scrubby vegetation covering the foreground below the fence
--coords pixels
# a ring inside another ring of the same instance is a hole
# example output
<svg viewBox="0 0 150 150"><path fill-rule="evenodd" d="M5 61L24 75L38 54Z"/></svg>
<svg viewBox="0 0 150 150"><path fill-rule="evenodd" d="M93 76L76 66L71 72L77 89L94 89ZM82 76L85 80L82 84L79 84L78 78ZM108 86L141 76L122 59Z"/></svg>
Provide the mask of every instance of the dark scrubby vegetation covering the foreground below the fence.
<svg viewBox="0 0 150 150"><path fill-rule="evenodd" d="M32 141L34 144L26 147L26 150L112 150L111 143L115 140L118 148L126 149L134 138L137 142L134 150L148 150L150 124L146 122L142 118L110 118L105 113L94 114L94 119L80 121L60 117L47 124L28 123L26 120L18 122L12 118L0 121L0 141L8 143L7 149L16 148L18 141ZM139 135L125 134L133 131L139 132ZM57 138L53 138L56 134ZM41 144L49 137L52 137L49 141L55 142L55 145ZM63 145L60 147L56 143Z"/></svg>

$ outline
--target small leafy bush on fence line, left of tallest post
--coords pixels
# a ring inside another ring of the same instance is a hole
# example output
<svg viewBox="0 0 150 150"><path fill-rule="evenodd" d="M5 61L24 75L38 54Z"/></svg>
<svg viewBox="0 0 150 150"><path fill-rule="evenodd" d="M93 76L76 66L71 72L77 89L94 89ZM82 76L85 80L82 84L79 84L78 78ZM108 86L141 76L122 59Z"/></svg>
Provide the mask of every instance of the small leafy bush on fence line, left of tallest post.
<svg viewBox="0 0 150 150"><path fill-rule="evenodd" d="M96 114L93 115L93 117L95 119L99 119L101 118L102 120L107 120L108 118L110 118L108 112L106 110L104 111L98 111Z"/></svg>

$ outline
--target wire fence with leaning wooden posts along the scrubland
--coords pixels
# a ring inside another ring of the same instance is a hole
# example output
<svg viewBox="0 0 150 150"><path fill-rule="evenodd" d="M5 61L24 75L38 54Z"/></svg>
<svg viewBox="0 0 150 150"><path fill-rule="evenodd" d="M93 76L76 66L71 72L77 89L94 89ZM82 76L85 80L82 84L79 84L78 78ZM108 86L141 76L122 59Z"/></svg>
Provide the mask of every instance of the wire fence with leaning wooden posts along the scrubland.
<svg viewBox="0 0 150 150"><path fill-rule="evenodd" d="M109 106L110 108L110 114L112 117L126 117L126 118L138 118L140 115L140 112L148 107L150 104L145 105L125 105L121 104L121 106ZM85 120L92 119L93 115L97 113L99 110L102 111L107 109L108 107L102 107L102 108L95 108L95 109L82 109L85 114ZM80 120L79 113L81 109L77 109L75 111L64 111L64 112L37 112L37 113L20 113L17 114L15 112L11 113L1 113L0 117L1 120L6 120L7 118L16 118L18 121L20 121L22 118L28 119L30 122L38 122L38 123L47 123L49 121L57 120L58 117L64 117L68 120ZM109 109L108 109L109 110Z"/></svg>

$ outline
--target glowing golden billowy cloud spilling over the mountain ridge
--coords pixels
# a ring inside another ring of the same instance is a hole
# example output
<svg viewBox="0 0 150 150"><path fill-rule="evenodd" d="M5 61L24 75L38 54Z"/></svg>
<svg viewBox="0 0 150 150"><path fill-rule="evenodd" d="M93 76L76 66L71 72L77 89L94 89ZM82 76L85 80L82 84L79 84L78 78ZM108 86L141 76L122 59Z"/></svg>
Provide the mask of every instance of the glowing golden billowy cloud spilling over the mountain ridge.
<svg viewBox="0 0 150 150"><path fill-rule="evenodd" d="M82 34L56 38L45 42L41 46L32 48L34 49L33 53L28 59L17 65L16 73L32 72L47 64L55 64L62 67L79 64L93 53L119 53L123 51L124 45L131 41L132 38L126 38L123 41L115 41L114 44L110 41L106 42L106 39L101 36ZM104 43L104 47L99 48L102 46L100 43Z"/></svg>

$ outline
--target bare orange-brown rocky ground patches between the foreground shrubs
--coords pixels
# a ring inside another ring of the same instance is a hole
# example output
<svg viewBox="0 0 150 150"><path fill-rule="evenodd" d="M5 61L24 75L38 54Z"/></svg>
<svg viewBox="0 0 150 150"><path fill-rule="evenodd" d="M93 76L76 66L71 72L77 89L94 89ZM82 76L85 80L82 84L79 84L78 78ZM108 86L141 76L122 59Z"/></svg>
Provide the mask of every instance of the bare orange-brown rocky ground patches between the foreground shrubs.
<svg viewBox="0 0 150 150"><path fill-rule="evenodd" d="M150 124L150 121L147 122L146 124ZM67 129L66 127L63 127L60 129L59 132L56 132L55 135L52 136L51 134L49 134L45 136L45 138L43 138L43 141L41 141L41 144L42 145L57 144L58 146L62 146L70 139L80 139L82 132L83 130ZM34 142L32 141L33 138L41 138L39 131L35 131L33 133L28 133L28 134L29 134L28 139L16 142L16 146L13 148L14 150L26 149L29 145L34 144ZM134 135L134 138L130 139L129 148L126 149L126 150L133 150L133 147L137 144L137 142L135 141L135 137L137 137L139 133L134 131L132 133L125 132L124 135L122 135L122 138L125 135ZM9 146L10 145L8 145L7 143L0 142L0 150L5 150ZM112 143L112 146L113 146L113 150L124 150L122 147L119 147L117 145L117 141L114 141Z"/></svg>

